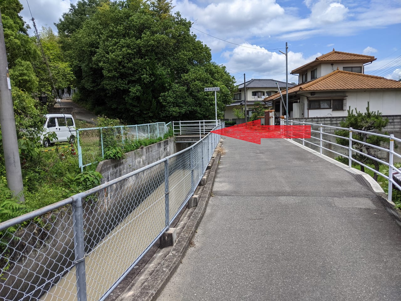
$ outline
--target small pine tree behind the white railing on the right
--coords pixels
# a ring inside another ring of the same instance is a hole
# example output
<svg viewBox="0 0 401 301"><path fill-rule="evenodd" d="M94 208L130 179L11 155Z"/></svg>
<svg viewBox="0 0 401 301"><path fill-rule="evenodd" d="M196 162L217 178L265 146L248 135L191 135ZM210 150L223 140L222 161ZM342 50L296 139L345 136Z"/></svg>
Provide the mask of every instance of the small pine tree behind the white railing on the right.
<svg viewBox="0 0 401 301"><path fill-rule="evenodd" d="M383 118L381 116L381 112L371 112L369 109L369 102L366 107L366 112L362 113L355 108L351 110L351 107L348 108L348 115L344 121L340 122L340 126L342 128L352 128L353 130L361 130L365 132L380 132L382 128L387 126L389 120L387 118ZM343 136L349 138L349 130L336 130L334 134L338 136ZM387 134L387 133L385 133ZM381 146L383 143L388 142L386 138L373 136L368 133L359 133L359 132L352 132L352 139L358 140L364 143L369 143L375 146ZM342 138L336 138L336 142L340 145L348 145L348 140ZM363 143L359 142L352 142L352 148L365 153L371 157L378 158L377 152L378 149L374 148L373 146L368 146ZM379 171L379 162L369 159L363 155L358 153L354 153L352 157L364 164L373 164L375 166L375 170ZM365 171L365 167L360 165L360 170ZM374 173L373 179L377 181L377 173Z"/></svg>

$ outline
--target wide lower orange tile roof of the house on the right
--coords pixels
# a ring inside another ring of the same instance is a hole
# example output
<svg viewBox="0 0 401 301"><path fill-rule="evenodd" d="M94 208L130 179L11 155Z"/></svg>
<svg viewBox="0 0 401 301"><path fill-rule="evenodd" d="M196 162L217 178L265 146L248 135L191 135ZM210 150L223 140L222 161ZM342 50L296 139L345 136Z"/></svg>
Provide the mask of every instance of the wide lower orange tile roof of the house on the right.
<svg viewBox="0 0 401 301"><path fill-rule="evenodd" d="M355 89L401 89L401 81L387 79L384 77L368 75L363 73L335 70L322 77L302 83L288 89L288 94L298 91L331 91L331 90L355 90ZM281 92L286 94L286 90ZM279 93L273 94L265 99L275 100L280 97Z"/></svg>

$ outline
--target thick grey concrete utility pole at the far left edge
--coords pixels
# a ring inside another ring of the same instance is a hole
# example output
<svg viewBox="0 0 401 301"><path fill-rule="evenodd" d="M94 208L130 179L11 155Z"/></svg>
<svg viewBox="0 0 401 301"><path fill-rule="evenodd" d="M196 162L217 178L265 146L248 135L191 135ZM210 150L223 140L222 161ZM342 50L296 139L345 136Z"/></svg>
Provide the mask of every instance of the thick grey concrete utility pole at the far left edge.
<svg viewBox="0 0 401 301"><path fill-rule="evenodd" d="M17 132L15 128L14 108L11 98L11 83L8 77L6 45L4 43L3 21L0 12L0 125L6 164L7 186L19 201L25 201L22 191L20 155L18 152Z"/></svg>

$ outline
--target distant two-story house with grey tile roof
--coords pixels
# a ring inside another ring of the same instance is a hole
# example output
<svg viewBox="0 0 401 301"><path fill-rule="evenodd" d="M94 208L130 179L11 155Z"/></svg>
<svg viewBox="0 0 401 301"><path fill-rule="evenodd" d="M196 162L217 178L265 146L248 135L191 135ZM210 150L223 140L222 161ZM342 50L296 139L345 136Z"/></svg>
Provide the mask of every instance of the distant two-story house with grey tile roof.
<svg viewBox="0 0 401 301"><path fill-rule="evenodd" d="M241 106L243 112L245 110L245 93L246 93L246 101L247 101L247 116L248 118L252 116L253 108L255 107L255 102L260 102L266 110L274 107L274 102L269 101L265 102L263 99L267 96L271 96L279 91L277 84L280 89L286 88L286 83L284 81L276 81L274 79L251 79L245 82L244 84L240 83L238 85L237 91L234 93L233 102L226 106L224 112L225 119L234 119L236 118L233 113L233 108L237 106ZM293 87L294 83L289 83L288 87ZM245 92L246 90L246 92ZM277 102L278 104L279 102Z"/></svg>

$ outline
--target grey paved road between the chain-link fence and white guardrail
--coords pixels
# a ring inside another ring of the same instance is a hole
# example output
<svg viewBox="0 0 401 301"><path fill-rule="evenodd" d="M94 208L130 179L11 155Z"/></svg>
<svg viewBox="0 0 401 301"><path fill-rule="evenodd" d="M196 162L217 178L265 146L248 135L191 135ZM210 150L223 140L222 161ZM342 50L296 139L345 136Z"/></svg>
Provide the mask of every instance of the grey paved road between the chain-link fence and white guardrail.
<svg viewBox="0 0 401 301"><path fill-rule="evenodd" d="M207 212L158 301L401 300L401 228L351 173L225 138Z"/></svg>

